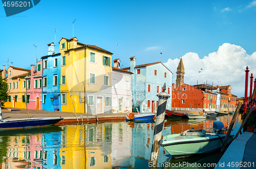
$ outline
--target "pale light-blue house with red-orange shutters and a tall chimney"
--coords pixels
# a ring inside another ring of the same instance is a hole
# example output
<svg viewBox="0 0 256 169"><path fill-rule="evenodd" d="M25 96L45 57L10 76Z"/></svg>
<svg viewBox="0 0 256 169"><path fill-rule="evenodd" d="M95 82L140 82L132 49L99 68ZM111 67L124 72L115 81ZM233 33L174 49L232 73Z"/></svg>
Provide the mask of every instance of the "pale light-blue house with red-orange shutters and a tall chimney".
<svg viewBox="0 0 256 169"><path fill-rule="evenodd" d="M166 109L172 109L172 76L173 73L161 62L136 65L135 57L130 58L130 67L123 68L133 72L131 76L131 91L133 107L139 107L140 112L156 112L158 106L157 94L165 92L170 96Z"/></svg>

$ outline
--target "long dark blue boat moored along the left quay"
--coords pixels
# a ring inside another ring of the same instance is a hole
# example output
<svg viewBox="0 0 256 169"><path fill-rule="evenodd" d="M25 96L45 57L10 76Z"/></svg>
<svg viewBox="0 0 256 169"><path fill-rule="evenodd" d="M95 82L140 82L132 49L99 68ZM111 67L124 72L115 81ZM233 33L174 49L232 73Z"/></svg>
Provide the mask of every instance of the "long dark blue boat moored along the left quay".
<svg viewBox="0 0 256 169"><path fill-rule="evenodd" d="M0 121L0 130L51 126L62 119L63 118L28 118L2 120Z"/></svg>

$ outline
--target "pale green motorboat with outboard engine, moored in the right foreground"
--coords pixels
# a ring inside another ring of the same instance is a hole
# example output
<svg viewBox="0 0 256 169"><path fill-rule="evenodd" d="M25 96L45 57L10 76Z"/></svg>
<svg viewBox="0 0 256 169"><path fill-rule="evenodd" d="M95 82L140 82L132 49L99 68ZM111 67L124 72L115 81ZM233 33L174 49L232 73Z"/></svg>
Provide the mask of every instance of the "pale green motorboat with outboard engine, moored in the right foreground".
<svg viewBox="0 0 256 169"><path fill-rule="evenodd" d="M166 135L161 146L174 158L187 157L201 153L208 153L222 147L226 134L222 133L224 125L214 121L214 133L206 133L203 129L189 129L181 134ZM233 135L228 138L228 144L233 140Z"/></svg>

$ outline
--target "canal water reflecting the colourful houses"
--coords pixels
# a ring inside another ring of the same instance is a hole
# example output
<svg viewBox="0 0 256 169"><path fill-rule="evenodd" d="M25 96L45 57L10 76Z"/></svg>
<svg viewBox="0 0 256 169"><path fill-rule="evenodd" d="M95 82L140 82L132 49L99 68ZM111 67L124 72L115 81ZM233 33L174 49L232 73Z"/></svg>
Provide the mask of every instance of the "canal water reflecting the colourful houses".
<svg viewBox="0 0 256 169"><path fill-rule="evenodd" d="M165 119L162 135L189 128L210 130L215 119ZM217 120L229 126L232 115ZM238 117L234 130L241 124ZM104 122L50 126L0 132L0 168L148 168L155 122ZM174 159L162 147L159 168L182 168L174 164L208 164L185 168L214 168L220 153Z"/></svg>

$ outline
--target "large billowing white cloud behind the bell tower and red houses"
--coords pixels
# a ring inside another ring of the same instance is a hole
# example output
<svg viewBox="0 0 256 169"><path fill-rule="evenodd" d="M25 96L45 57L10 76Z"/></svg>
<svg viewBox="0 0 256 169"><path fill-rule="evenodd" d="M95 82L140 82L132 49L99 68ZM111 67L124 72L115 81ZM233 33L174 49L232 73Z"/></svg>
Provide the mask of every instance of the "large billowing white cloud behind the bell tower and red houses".
<svg viewBox="0 0 256 169"><path fill-rule="evenodd" d="M164 65L176 72L179 60L168 59ZM232 94L238 97L244 96L246 66L249 67L249 75L254 73L254 78L256 75L256 51L249 55L241 46L230 43L224 43L217 52L209 53L202 59L197 53L188 52L182 60L185 68L184 82L188 85L196 85L197 80L199 84L207 80L209 85L212 85L212 81L214 86L231 85ZM175 80L176 74L173 75L174 83Z"/></svg>

